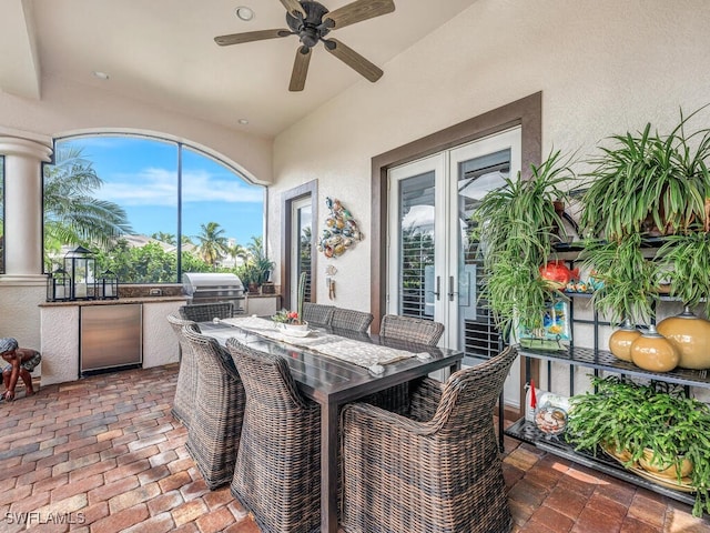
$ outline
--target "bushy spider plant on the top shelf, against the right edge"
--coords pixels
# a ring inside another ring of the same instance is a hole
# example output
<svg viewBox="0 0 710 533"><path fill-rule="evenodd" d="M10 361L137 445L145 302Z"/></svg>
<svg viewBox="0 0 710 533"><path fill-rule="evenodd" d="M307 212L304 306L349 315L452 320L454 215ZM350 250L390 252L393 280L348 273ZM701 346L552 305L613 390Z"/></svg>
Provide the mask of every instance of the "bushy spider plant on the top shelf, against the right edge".
<svg viewBox="0 0 710 533"><path fill-rule="evenodd" d="M701 108L702 109L702 108ZM686 132L683 118L668 135L651 132L612 135L610 148L589 161L591 183L582 194L580 225L592 237L620 240L674 233L706 218L710 174L710 132ZM694 148L691 148L694 145Z"/></svg>

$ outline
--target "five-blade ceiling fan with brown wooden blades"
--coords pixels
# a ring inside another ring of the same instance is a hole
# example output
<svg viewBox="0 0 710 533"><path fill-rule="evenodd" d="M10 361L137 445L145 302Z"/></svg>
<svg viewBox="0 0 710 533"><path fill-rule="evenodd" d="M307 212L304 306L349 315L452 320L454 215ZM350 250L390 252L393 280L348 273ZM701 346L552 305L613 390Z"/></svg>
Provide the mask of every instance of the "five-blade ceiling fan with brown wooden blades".
<svg viewBox="0 0 710 533"><path fill-rule="evenodd" d="M390 13L395 10L393 0L356 0L342 8L328 11L325 6L311 0L281 0L286 8L286 29L247 31L231 36L215 37L221 47L241 44L243 42L262 41L280 37L298 36L301 47L296 51L296 59L291 73L290 91L302 91L306 83L311 50L318 41L325 49L352 69L359 72L369 81L377 81L383 71L367 61L352 48L337 39L325 39L332 30L337 30L355 22Z"/></svg>

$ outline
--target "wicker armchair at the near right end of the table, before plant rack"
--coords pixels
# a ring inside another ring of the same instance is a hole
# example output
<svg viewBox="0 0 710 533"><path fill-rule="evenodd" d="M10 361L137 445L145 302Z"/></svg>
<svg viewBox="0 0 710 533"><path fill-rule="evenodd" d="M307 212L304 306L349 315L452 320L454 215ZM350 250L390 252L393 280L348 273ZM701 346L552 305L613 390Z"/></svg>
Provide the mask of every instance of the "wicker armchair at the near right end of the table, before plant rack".
<svg viewBox="0 0 710 533"><path fill-rule="evenodd" d="M508 506L493 410L517 352L413 391L402 416L365 403L342 412L342 509L348 533L504 533Z"/></svg>

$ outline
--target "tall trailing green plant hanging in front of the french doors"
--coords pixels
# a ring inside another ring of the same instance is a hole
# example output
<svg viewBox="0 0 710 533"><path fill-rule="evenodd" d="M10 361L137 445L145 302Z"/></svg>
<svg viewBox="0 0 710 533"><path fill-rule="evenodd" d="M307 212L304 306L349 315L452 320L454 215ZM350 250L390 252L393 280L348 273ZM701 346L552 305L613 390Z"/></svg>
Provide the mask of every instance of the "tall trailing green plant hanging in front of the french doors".
<svg viewBox="0 0 710 533"><path fill-rule="evenodd" d="M561 294L540 269L559 241L556 231L564 231L556 202L566 201L564 185L572 177L569 160L551 152L539 167L531 165L530 178L518 172L488 192L471 215L473 239L480 242L484 254L480 298L504 335L516 323L539 329L546 309Z"/></svg>

